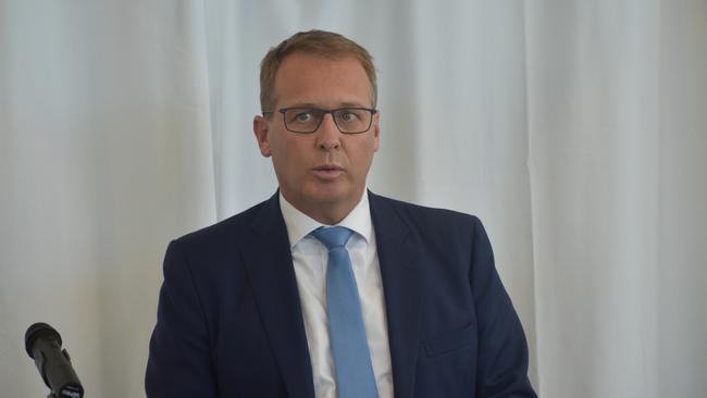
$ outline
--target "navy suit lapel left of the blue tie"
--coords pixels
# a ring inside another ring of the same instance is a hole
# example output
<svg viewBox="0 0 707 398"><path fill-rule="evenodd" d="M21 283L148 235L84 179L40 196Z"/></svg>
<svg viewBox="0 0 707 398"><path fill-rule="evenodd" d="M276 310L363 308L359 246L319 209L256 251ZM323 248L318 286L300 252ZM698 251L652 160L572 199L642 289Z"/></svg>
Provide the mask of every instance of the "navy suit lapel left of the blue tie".
<svg viewBox="0 0 707 398"><path fill-rule="evenodd" d="M263 206L252 229L253 238L243 254L287 393L290 397L314 397L297 279L278 194Z"/></svg>

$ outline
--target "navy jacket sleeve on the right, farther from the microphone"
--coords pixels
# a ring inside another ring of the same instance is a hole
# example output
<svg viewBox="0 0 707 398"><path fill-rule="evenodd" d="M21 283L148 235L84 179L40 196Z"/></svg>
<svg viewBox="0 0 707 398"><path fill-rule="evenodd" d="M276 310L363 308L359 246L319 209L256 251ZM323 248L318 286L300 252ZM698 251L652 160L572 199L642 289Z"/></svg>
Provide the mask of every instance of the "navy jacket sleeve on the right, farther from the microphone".
<svg viewBox="0 0 707 398"><path fill-rule="evenodd" d="M479 323L476 397L536 398L528 378L528 341L494 265L481 221L473 217L470 283Z"/></svg>

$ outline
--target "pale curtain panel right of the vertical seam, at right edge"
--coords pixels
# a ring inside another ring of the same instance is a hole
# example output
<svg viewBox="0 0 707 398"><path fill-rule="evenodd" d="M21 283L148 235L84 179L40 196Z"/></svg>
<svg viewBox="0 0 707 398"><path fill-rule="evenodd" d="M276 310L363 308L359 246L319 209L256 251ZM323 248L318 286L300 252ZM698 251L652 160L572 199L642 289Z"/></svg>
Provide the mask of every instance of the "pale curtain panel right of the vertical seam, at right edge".
<svg viewBox="0 0 707 398"><path fill-rule="evenodd" d="M707 389L707 3L526 4L541 395Z"/></svg>

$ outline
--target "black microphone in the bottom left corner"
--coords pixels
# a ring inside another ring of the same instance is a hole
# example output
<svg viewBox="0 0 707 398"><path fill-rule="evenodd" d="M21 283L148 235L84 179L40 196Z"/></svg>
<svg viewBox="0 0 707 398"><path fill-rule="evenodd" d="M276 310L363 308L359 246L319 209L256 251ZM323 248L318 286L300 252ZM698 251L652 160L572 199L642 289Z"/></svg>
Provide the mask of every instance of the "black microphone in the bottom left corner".
<svg viewBox="0 0 707 398"><path fill-rule="evenodd" d="M71 358L61 349L61 336L46 323L35 323L25 333L25 349L35 360L50 397L83 398L84 387L71 365Z"/></svg>

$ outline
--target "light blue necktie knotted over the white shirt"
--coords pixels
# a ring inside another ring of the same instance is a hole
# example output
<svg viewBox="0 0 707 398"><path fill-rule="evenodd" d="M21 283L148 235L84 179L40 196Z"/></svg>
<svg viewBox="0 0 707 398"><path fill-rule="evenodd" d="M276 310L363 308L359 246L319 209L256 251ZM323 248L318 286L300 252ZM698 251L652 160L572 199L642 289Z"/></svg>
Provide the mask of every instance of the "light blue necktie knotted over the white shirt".
<svg viewBox="0 0 707 398"><path fill-rule="evenodd" d="M354 232L321 227L312 236L326 246L326 311L339 398L377 398L361 301L346 242Z"/></svg>

